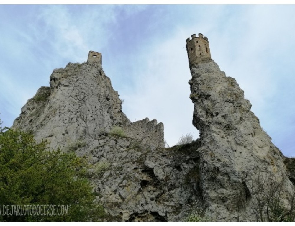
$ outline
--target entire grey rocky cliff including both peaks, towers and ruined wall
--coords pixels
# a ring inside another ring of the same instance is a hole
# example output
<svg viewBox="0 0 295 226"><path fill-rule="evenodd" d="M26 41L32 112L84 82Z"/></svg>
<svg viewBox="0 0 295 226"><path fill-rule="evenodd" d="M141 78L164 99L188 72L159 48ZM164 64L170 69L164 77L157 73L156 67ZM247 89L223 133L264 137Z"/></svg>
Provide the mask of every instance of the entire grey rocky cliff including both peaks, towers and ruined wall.
<svg viewBox="0 0 295 226"><path fill-rule="evenodd" d="M55 69L50 87L28 100L13 127L87 156L94 191L111 220L180 221L196 210L211 220L257 220L253 181L261 175L280 184L289 207L293 160L271 143L243 91L220 71L202 39L187 40L189 59L198 54L189 64L189 84L200 138L191 144L164 148L163 123L131 123L102 70L101 54L93 51L86 63Z"/></svg>

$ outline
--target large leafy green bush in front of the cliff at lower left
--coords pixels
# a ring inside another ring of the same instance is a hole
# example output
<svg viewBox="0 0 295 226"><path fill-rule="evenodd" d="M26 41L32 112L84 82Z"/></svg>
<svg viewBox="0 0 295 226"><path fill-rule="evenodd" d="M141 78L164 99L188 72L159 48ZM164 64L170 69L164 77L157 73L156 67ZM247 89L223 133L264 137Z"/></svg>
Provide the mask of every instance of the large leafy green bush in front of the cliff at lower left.
<svg viewBox="0 0 295 226"><path fill-rule="evenodd" d="M1 205L68 205L64 216L0 216L1 221L97 221L104 209L94 201L88 164L74 153L48 150L47 142L0 124Z"/></svg>

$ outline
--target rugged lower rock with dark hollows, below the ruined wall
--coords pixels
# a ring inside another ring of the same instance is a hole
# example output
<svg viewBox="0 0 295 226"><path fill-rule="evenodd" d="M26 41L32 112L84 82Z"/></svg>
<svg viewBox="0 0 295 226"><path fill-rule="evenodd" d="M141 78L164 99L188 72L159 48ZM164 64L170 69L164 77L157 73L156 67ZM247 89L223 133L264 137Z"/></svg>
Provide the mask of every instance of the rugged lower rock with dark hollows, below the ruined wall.
<svg viewBox="0 0 295 226"><path fill-rule="evenodd" d="M116 221L183 221L198 207L195 141L183 149L151 148L130 137L99 134L76 153L87 156L94 191ZM80 145L81 146L81 145Z"/></svg>

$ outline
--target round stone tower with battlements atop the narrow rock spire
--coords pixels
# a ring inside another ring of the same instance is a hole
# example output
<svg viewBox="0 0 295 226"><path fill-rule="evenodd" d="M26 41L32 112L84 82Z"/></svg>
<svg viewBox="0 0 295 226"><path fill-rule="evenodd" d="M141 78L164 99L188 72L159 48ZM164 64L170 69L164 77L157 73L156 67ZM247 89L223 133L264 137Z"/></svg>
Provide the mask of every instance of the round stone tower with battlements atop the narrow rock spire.
<svg viewBox="0 0 295 226"><path fill-rule="evenodd" d="M191 39L186 39L186 51L189 57L189 68L194 63L200 63L206 59L211 59L208 38L199 33L199 37L191 35Z"/></svg>

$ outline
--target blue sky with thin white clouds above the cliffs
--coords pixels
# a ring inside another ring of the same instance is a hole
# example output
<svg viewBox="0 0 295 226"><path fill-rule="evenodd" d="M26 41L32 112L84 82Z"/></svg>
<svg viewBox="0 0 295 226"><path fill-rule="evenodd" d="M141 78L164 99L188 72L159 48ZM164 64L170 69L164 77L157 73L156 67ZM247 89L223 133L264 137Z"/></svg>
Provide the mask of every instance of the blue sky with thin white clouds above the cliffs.
<svg viewBox="0 0 295 226"><path fill-rule="evenodd" d="M0 5L0 118L11 126L55 68L89 50L131 121L157 119L175 145L192 125L185 40L209 39L273 143L295 156L295 5Z"/></svg>

